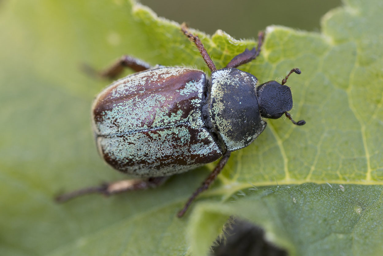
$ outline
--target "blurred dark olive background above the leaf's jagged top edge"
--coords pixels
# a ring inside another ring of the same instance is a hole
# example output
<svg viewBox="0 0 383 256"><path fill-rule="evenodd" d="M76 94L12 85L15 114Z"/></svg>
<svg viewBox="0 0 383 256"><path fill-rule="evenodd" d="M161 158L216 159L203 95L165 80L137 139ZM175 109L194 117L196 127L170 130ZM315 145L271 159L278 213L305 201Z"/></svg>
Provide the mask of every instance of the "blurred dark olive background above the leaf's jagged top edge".
<svg viewBox="0 0 383 256"><path fill-rule="evenodd" d="M254 38L268 25L319 31L321 17L340 0L142 0L160 17L213 34L221 29L236 39ZM246 24L246 25L245 25ZM250 24L250 26L248 25Z"/></svg>

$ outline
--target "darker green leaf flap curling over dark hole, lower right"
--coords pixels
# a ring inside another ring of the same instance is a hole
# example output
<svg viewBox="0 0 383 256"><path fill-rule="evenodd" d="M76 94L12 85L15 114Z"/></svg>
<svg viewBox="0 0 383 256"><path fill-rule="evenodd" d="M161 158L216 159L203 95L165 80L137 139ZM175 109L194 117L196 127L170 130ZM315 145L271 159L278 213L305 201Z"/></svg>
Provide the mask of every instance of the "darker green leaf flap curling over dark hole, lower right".
<svg viewBox="0 0 383 256"><path fill-rule="evenodd" d="M255 190L225 204L201 203L189 225L196 255L209 248L205 239L228 215L262 226L266 238L290 255L380 255L383 249L381 186L311 183ZM210 225L200 225L207 220Z"/></svg>

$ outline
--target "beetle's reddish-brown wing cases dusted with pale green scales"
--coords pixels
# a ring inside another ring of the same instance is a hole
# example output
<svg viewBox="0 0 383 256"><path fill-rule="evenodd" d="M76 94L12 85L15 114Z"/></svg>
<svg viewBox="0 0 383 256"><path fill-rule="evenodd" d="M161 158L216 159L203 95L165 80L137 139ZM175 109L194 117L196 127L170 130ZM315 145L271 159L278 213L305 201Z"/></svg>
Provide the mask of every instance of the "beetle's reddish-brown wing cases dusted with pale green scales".
<svg viewBox="0 0 383 256"><path fill-rule="evenodd" d="M206 81L202 71L165 67L105 88L92 107L99 153L132 177L169 176L221 157L201 115Z"/></svg>

